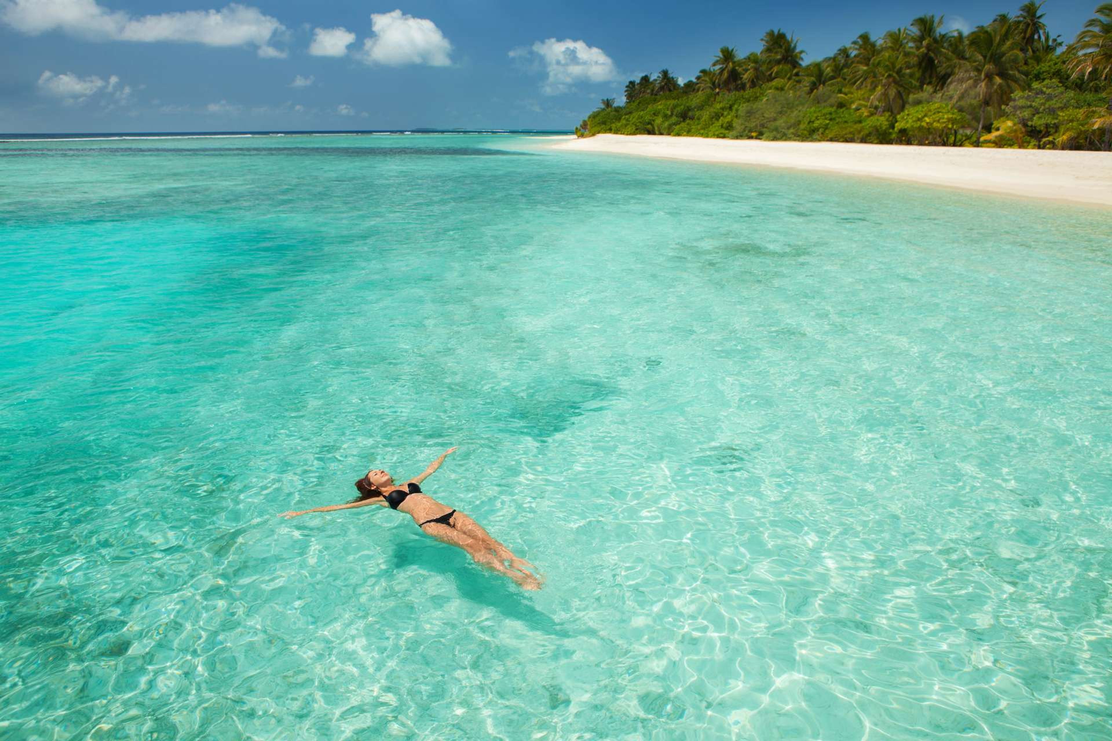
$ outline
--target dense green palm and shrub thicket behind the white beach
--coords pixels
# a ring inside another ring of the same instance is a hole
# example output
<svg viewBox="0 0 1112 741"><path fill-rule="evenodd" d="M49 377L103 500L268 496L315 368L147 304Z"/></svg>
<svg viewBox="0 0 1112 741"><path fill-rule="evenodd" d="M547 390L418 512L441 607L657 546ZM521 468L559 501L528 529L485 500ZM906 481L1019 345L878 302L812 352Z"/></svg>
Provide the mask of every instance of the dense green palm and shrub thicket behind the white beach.
<svg viewBox="0 0 1112 741"><path fill-rule="evenodd" d="M806 64L798 39L768 30L761 51L722 47L693 80L631 80L625 104L603 100L575 132L1109 151L1112 2L1070 43L1043 4L969 33L920 16Z"/></svg>

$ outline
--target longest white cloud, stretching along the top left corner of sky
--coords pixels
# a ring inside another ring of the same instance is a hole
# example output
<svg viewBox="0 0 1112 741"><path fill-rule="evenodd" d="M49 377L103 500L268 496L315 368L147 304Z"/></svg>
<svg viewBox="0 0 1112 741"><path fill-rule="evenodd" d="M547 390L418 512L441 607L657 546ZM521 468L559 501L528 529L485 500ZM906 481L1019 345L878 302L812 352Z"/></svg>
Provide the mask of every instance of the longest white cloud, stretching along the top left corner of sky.
<svg viewBox="0 0 1112 741"><path fill-rule="evenodd" d="M0 21L31 36L57 30L90 41L254 46L259 57L286 56L271 46L286 28L258 8L238 3L222 10L135 17L122 10L109 10L96 0L0 0Z"/></svg>

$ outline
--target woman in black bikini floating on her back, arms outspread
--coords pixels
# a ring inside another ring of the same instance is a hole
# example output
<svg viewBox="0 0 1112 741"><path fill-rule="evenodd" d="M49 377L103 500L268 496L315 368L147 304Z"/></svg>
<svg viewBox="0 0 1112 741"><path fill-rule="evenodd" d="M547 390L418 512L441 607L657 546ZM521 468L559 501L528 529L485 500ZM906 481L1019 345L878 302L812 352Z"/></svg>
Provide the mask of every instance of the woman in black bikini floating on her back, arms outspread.
<svg viewBox="0 0 1112 741"><path fill-rule="evenodd" d="M540 589L540 581L523 568L536 569L535 565L514 555L508 548L492 538L490 533L475 520L463 512L448 509L420 490L420 482L433 475L433 472L440 468L444 459L454 452L456 449L449 448L443 455L429 463L424 473L409 479L403 487L396 487L389 473L376 469L367 471L367 475L355 482L359 495L347 504L315 507L304 512L282 512L281 517L296 518L309 512L334 512L367 507L368 504L389 507L411 517L417 527L426 534L433 535L440 542L464 549L475 559L476 563L509 577L525 589ZM509 561L508 569L506 561Z"/></svg>

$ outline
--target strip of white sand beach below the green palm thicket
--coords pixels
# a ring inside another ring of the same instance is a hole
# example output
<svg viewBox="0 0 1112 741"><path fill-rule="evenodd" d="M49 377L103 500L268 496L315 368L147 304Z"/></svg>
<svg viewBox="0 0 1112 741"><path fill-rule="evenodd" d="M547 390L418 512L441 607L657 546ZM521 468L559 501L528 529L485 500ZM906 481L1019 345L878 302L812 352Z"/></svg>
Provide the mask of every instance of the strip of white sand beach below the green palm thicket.
<svg viewBox="0 0 1112 741"><path fill-rule="evenodd" d="M556 147L910 180L1112 206L1112 153L597 134Z"/></svg>

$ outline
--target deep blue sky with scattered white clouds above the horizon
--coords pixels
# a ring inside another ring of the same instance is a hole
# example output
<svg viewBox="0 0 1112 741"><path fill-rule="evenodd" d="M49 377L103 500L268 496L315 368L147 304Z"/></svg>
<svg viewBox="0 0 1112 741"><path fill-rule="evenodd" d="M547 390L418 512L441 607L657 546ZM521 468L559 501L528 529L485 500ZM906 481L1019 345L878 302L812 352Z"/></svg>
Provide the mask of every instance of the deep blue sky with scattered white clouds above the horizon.
<svg viewBox="0 0 1112 741"><path fill-rule="evenodd" d="M820 59L861 31L1011 2L0 0L0 131L570 129L625 81L681 78L770 28ZM1073 39L1096 0L1049 0Z"/></svg>

